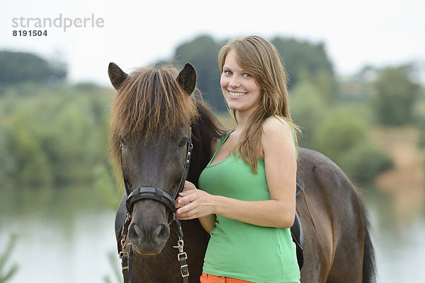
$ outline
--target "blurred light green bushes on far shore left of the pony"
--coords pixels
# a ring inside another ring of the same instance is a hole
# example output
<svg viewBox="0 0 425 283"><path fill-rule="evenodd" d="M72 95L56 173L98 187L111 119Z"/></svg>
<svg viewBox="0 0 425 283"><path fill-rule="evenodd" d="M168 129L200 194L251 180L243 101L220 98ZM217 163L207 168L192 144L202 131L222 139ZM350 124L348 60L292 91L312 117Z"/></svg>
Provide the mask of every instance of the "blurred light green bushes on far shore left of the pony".
<svg viewBox="0 0 425 283"><path fill-rule="evenodd" d="M106 109L112 91L40 85L31 91L28 96L15 88L0 99L0 161L6 161L0 164L1 185L96 180L99 166L108 166Z"/></svg>

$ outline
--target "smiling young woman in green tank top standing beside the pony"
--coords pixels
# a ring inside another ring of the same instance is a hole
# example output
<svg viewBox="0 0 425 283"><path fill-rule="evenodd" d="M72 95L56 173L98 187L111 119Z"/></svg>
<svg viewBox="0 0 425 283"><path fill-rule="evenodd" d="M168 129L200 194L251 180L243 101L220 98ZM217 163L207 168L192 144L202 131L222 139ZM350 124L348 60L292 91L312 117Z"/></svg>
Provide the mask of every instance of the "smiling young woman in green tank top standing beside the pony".
<svg viewBox="0 0 425 283"><path fill-rule="evenodd" d="M220 84L237 127L220 141L177 200L181 220L210 233L200 282L299 282L290 226L295 218L297 146L285 71L258 36L220 50Z"/></svg>

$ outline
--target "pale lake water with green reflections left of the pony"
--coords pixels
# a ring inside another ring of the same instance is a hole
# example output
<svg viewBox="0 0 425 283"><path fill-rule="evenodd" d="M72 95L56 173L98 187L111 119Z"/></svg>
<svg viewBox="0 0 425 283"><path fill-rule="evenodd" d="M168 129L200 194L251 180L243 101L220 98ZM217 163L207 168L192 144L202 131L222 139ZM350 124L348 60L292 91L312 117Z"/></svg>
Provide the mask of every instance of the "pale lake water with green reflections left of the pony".
<svg viewBox="0 0 425 283"><path fill-rule="evenodd" d="M9 235L18 235L8 250L8 266L16 262L18 272L8 282L118 282L108 258L116 251L115 213L96 191L0 190L0 203L0 253Z"/></svg>

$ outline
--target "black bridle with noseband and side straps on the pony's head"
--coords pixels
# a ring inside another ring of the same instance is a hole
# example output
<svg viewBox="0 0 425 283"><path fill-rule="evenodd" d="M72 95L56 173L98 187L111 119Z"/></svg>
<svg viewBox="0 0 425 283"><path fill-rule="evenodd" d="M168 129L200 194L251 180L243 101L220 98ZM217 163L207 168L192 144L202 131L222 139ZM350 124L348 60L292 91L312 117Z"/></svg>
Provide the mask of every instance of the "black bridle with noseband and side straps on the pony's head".
<svg viewBox="0 0 425 283"><path fill-rule="evenodd" d="M138 187L137 189L130 191L130 188L127 185L127 182L125 182L124 179L124 170L123 170L123 156L122 156L122 147L123 144L120 144L120 162L121 162L121 170L123 171L123 181L125 186L125 192L127 193L128 197L126 200L125 207L127 207L127 217L125 219L125 222L123 224L122 230L121 230L121 236L120 241L118 241L118 249L120 250L120 259L122 260L122 269L123 269L123 277L125 283L131 283L131 267L132 267L132 247L131 243L127 243L127 236L128 236L128 226L131 222L131 216L132 216L132 209L135 205L135 202L138 202L140 200L156 200L157 202L161 202L166 206L166 208L169 209L169 225L171 224L171 221L176 221L177 225L177 234L179 236L179 241L177 242L177 246L174 246L174 248L179 249L179 254L177 255L177 259L180 262L180 272L181 277L183 277L183 283L188 283L188 265L186 263L186 260L188 258L188 255L183 251L183 230L181 229L181 223L179 219L176 217L176 198L179 192L183 191L184 183L186 182L186 178L189 171L189 165L191 163L191 156L192 156L192 129L189 128L189 139L186 142L186 158L183 164L183 173L180 178L179 187L175 190L173 196L169 195L164 190L160 189L159 187Z"/></svg>

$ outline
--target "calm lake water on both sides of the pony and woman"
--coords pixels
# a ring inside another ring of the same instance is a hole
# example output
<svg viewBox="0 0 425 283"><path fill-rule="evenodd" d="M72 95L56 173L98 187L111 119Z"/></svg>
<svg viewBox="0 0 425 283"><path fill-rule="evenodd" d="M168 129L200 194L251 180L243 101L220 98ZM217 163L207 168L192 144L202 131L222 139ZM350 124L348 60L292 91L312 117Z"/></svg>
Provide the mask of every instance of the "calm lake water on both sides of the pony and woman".
<svg viewBox="0 0 425 283"><path fill-rule="evenodd" d="M395 197L365 194L374 227L378 282L425 282L425 212L399 212ZM423 203L423 201L421 202ZM407 209L412 206L407 205ZM401 215L400 215L401 214ZM0 190L0 253L11 283L121 282L113 208L91 188ZM6 244L17 235L15 246Z"/></svg>

